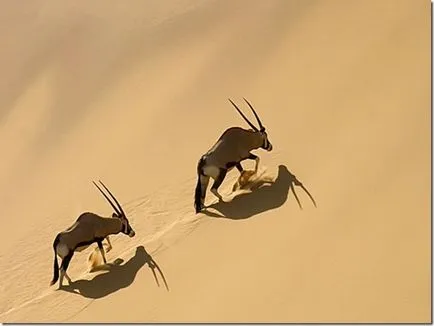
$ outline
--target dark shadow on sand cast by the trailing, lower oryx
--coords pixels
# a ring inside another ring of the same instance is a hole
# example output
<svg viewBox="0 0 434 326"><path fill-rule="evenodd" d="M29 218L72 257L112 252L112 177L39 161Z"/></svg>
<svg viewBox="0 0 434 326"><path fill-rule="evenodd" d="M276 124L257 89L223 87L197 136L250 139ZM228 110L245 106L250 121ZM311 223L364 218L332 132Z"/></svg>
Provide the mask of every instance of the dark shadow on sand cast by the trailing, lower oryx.
<svg viewBox="0 0 434 326"><path fill-rule="evenodd" d="M86 298L99 299L130 286L133 283L137 272L145 264L148 264L154 274L157 285L160 286L155 273L155 268L157 268L163 278L166 289L169 290L160 267L151 255L146 252L143 246L137 247L136 254L125 264L119 265L115 263L104 265L103 270L107 270L107 272L95 276L92 280L74 281L70 285L62 287L61 290L79 294Z"/></svg>

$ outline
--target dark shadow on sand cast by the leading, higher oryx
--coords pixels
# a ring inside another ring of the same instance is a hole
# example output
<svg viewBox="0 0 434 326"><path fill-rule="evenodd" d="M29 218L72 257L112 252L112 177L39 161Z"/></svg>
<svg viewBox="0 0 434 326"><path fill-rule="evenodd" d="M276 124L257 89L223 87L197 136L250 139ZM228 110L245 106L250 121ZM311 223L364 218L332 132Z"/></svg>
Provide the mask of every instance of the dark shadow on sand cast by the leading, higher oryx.
<svg viewBox="0 0 434 326"><path fill-rule="evenodd" d="M230 202L218 202L207 207L217 210L221 215L208 210L204 210L203 213L211 217L224 217L233 220L246 219L253 215L282 206L288 199L290 188L300 208L302 208L298 196L295 193L294 185L302 187L308 193L303 184L285 165L279 165L279 173L274 182L256 182L255 187L252 188L252 192L238 195ZM309 193L308 195L316 206L313 197Z"/></svg>

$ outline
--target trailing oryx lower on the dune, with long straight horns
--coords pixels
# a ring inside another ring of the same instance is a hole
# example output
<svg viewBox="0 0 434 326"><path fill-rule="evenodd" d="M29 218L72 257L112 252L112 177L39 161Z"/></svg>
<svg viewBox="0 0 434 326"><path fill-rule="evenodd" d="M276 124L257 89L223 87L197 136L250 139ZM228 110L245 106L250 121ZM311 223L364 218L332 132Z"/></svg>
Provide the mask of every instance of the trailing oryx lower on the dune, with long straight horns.
<svg viewBox="0 0 434 326"><path fill-rule="evenodd" d="M123 211L121 205L107 189L107 187L100 181L105 190L110 194L116 205L108 198L108 196L101 190L101 188L94 182L98 190L104 195L107 201L115 210L112 217L103 217L95 213L86 212L81 214L75 223L65 231L57 234L53 242L54 250L54 276L50 283L53 285L59 279L59 264L57 262L57 256L62 258L60 266L60 280L59 288L62 286L63 278L66 277L68 282L71 282L71 278L66 274L69 263L76 251L82 251L86 249L92 243L97 243L101 251L101 255L106 263L104 249L102 241L107 239L110 244L109 235L124 233L130 237L135 235L134 230L131 228L129 221Z"/></svg>

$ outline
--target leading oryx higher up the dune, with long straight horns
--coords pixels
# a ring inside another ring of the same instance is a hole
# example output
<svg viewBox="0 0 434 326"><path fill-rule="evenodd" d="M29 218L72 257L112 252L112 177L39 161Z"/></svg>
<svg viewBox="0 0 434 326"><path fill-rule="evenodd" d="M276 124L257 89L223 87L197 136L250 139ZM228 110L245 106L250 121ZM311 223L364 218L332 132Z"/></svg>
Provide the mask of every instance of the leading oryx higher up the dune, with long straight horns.
<svg viewBox="0 0 434 326"><path fill-rule="evenodd" d="M214 146L200 158L197 165L198 180L194 200L196 213L200 212L204 207L209 178L214 180L211 186L211 192L219 198L219 200L223 200L222 196L218 193L218 188L226 177L227 172L236 167L237 170L242 173L243 167L241 162L250 159L256 162L256 173L259 166L259 157L252 154L251 151L258 148L263 148L267 151L273 149L261 120L252 105L246 99L244 100L254 113L259 124L259 129L245 117L234 102L229 100L252 129L243 129L240 127L226 129Z"/></svg>

